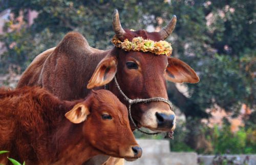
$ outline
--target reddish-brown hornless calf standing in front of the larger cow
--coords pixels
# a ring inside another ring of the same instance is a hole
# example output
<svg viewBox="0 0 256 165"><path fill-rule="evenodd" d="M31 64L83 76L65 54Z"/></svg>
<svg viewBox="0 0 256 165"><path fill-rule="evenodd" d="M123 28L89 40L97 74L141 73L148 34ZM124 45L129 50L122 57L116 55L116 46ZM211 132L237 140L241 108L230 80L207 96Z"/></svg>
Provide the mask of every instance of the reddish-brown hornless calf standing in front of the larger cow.
<svg viewBox="0 0 256 165"><path fill-rule="evenodd" d="M33 165L81 164L98 154L136 159L142 153L126 107L107 90L61 101L39 87L2 88L0 132L0 150L10 151L0 164L11 164L7 156Z"/></svg>

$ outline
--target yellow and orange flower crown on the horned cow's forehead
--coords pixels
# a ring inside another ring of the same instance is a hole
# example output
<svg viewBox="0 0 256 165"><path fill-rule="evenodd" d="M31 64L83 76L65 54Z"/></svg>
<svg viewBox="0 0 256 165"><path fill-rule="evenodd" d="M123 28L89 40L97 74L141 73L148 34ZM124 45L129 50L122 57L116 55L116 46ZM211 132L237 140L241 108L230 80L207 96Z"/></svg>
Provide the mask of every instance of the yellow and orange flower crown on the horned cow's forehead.
<svg viewBox="0 0 256 165"><path fill-rule="evenodd" d="M142 37L134 37L132 42L128 39L124 39L123 42L115 35L112 38L112 43L117 47L121 48L124 51L129 52L133 51L142 51L142 52L151 52L157 55L166 55L170 56L172 54L173 48L170 43L160 40L159 42L154 42L151 39L143 39Z"/></svg>

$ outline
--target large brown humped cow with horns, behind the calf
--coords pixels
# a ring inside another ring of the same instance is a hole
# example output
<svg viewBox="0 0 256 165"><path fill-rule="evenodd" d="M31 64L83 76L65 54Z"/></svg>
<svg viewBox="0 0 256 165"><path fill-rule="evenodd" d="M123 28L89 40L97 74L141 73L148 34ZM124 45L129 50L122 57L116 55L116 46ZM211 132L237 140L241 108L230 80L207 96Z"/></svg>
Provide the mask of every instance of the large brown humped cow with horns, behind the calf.
<svg viewBox="0 0 256 165"><path fill-rule="evenodd" d="M176 19L173 16L159 32L133 31L121 27L118 11L115 10L113 29L120 42L125 39L132 41L135 37L159 42L173 32ZM105 88L129 107L130 103L123 94L130 99L168 99L166 79L175 83L199 81L196 72L178 58L152 52L124 51L116 46L98 50L90 47L80 33L69 32L56 47L42 52L32 61L17 88L37 85L67 100L82 98L89 93L89 89ZM133 130L139 127L158 132L175 129L175 114L166 101L133 104L130 117L134 121L131 122Z"/></svg>

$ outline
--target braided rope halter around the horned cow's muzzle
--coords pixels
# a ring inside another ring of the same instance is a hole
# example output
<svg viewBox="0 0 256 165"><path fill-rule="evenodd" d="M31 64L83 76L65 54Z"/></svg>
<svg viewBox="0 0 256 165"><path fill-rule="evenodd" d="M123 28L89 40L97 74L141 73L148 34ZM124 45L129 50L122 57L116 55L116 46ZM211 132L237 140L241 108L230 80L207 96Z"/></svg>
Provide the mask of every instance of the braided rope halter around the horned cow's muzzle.
<svg viewBox="0 0 256 165"><path fill-rule="evenodd" d="M132 117L132 114L131 114L131 107L132 105L134 104L138 104L140 102L152 102L152 101L162 101L162 102L165 102L166 104L168 104L168 106L170 107L170 110L172 110L172 102L170 102L169 100L165 99L165 98L162 98L162 97L153 97L153 98L146 98L146 99L142 99L142 98L136 98L136 99L130 99L129 97L127 97L123 91L121 90L119 84L117 83L117 80L116 80L116 76L114 77L115 79L115 83L116 83L116 87L117 89L119 90L119 92L123 95L124 99L129 102L129 107L128 107L128 112L129 112L129 117L134 125L134 127L139 131L139 132L142 132L144 134L147 134L147 135L156 135L156 134L159 134L160 132L155 132L155 133L147 133L145 131L142 131L139 129L139 127L136 125L136 123L134 122L133 120L133 117Z"/></svg>

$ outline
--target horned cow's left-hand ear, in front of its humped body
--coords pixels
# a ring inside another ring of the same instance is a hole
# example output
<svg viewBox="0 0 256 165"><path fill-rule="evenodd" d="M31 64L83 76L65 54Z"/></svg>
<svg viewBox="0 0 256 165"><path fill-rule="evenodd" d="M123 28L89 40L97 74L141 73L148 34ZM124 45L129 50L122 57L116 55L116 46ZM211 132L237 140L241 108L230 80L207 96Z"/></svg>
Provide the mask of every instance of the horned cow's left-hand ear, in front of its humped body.
<svg viewBox="0 0 256 165"><path fill-rule="evenodd" d="M103 58L96 67L89 84L88 89L100 87L108 84L115 76L117 70L117 59L114 56Z"/></svg>

